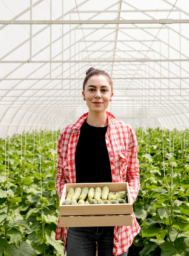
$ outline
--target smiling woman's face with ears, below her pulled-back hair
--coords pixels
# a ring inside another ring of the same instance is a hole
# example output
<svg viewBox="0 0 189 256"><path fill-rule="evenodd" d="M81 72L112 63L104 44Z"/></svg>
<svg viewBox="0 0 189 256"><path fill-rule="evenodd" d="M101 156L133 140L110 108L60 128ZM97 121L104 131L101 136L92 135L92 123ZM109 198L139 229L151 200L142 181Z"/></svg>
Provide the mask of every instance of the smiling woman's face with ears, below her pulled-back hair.
<svg viewBox="0 0 189 256"><path fill-rule="evenodd" d="M113 96L112 88L106 76L91 76L82 92L86 98L89 110L102 112L108 108L110 98Z"/></svg>

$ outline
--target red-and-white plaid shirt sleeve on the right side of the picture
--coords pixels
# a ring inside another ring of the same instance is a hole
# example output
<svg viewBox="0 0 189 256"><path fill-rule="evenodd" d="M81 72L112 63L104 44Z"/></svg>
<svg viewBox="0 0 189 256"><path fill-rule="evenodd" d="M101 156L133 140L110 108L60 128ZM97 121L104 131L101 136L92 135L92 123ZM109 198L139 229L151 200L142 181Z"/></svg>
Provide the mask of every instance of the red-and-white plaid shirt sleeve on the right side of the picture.
<svg viewBox="0 0 189 256"><path fill-rule="evenodd" d="M128 156L127 182L129 184L130 194L135 201L140 188L140 175L138 162L138 143L136 139L136 133L132 127L130 127Z"/></svg>

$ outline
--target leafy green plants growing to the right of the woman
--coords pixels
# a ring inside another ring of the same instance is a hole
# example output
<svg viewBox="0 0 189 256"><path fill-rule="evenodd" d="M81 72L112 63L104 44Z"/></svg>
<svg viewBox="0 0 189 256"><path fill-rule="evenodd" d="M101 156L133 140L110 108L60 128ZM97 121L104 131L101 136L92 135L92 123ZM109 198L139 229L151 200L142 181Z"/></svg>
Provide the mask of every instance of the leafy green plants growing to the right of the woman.
<svg viewBox="0 0 189 256"><path fill-rule="evenodd" d="M189 253L189 158L185 153L189 141L181 151L180 132L174 132L164 131L160 138L160 130L149 129L148 152L139 150L141 188L134 204L141 225L134 241L141 248L139 256Z"/></svg>

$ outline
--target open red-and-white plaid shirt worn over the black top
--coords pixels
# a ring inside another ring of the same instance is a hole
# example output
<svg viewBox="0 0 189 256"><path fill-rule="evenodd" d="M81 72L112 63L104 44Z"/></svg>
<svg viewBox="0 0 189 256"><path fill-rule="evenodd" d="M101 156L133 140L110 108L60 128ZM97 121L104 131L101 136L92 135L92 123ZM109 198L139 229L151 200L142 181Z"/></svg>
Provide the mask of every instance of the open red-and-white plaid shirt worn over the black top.
<svg viewBox="0 0 189 256"><path fill-rule="evenodd" d="M130 194L134 200L138 195L140 186L139 164L137 158L138 144L136 134L131 126L116 118L109 112L108 128L105 141L110 157L112 170L112 182L127 182ZM79 139L80 128L87 119L88 113L82 115L76 123L63 128L57 141L57 192L61 198L65 183L76 183L75 173L75 150ZM90 138L89 138L90 139ZM140 226L133 213L132 226L114 227L113 256L127 252L132 245L134 237L139 233ZM64 252L68 228L59 226L56 229L55 239L64 238Z"/></svg>

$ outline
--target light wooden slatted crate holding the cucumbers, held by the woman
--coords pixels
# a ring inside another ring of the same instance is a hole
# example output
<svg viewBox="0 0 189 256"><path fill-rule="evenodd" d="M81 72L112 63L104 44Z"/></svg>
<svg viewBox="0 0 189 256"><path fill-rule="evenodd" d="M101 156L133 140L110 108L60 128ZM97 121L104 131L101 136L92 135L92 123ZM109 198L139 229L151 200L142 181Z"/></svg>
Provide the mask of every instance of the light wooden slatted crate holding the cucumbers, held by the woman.
<svg viewBox="0 0 189 256"><path fill-rule="evenodd" d="M94 189L99 186L108 186L110 191L127 191L126 204L69 204L62 202L70 187L74 189L86 186ZM132 204L130 190L127 182L114 183L68 183L64 185L59 204L61 227L105 227L105 226L131 226Z"/></svg>

